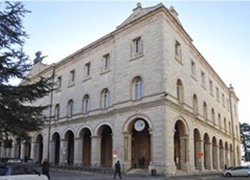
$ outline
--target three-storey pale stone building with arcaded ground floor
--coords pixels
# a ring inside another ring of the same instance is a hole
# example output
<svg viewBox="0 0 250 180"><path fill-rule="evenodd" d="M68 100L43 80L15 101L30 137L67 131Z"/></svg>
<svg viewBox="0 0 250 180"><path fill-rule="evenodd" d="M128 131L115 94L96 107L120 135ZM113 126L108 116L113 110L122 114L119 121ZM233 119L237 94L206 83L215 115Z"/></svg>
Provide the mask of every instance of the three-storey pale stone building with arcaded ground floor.
<svg viewBox="0 0 250 180"><path fill-rule="evenodd" d="M117 28L29 77L53 76L48 123L1 156L145 168L165 175L241 163L238 98L204 59L173 7L140 3ZM143 157L143 161L141 158Z"/></svg>

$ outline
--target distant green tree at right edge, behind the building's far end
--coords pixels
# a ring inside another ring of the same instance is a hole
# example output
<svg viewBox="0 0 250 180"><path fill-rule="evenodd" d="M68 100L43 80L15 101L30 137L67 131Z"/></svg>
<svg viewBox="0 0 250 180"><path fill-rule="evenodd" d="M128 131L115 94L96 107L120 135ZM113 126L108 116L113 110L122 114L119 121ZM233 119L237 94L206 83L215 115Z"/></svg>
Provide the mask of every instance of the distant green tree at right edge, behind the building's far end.
<svg viewBox="0 0 250 180"><path fill-rule="evenodd" d="M240 123L241 143L245 152L245 160L250 161L248 148L250 147L250 125L248 123Z"/></svg>

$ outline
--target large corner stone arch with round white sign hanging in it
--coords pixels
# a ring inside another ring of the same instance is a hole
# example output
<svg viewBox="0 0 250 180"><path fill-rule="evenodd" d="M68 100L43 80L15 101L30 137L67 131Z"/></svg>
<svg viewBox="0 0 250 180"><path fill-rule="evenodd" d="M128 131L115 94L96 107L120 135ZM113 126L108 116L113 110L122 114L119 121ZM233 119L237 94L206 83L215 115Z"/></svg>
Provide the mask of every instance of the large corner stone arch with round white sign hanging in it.
<svg viewBox="0 0 250 180"><path fill-rule="evenodd" d="M124 123L124 160L129 162L128 168L148 168L152 129L150 118L144 114L132 115Z"/></svg>

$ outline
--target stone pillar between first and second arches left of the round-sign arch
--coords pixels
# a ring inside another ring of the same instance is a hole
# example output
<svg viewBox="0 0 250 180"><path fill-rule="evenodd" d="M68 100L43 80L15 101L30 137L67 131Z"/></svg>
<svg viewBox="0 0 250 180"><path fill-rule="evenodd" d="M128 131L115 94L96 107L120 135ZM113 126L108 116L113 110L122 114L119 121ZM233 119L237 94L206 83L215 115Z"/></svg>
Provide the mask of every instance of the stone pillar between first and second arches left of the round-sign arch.
<svg viewBox="0 0 250 180"><path fill-rule="evenodd" d="M99 136L91 137L91 164L99 166L101 162L101 138Z"/></svg>

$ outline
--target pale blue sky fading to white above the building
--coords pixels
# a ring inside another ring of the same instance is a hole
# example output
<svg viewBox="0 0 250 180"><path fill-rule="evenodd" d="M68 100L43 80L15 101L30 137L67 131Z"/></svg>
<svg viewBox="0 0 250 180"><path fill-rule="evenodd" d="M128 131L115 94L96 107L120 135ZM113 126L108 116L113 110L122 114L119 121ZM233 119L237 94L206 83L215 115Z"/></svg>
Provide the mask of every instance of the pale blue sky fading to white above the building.
<svg viewBox="0 0 250 180"><path fill-rule="evenodd" d="M24 1L29 34L24 50L52 64L114 31L138 1ZM250 124L250 1L139 1L174 6L193 44L239 98L240 122Z"/></svg>

